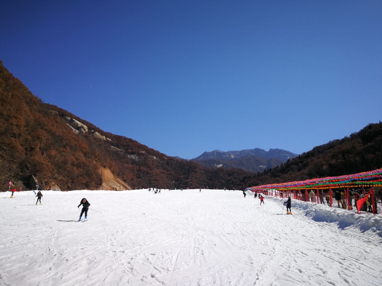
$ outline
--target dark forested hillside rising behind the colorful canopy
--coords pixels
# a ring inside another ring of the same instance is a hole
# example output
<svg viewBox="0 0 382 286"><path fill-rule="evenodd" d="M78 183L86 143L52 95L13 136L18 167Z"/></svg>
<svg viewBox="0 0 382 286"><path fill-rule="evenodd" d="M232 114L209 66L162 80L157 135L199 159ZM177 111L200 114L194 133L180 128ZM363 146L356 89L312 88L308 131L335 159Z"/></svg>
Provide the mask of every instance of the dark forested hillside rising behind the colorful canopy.
<svg viewBox="0 0 382 286"><path fill-rule="evenodd" d="M382 123L369 124L341 140L314 147L278 167L256 175L257 183L281 183L355 174L382 166Z"/></svg>

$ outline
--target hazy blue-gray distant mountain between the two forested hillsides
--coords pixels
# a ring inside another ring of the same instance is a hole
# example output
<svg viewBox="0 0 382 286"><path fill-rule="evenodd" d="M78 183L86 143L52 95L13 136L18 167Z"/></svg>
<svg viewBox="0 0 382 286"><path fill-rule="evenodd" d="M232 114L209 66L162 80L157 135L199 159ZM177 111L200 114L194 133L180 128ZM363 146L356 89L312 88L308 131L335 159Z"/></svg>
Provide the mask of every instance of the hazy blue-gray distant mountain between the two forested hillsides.
<svg viewBox="0 0 382 286"><path fill-rule="evenodd" d="M298 154L283 149L246 149L241 151L204 152L199 157L192 159L208 168L239 168L251 172L262 172L297 157Z"/></svg>

